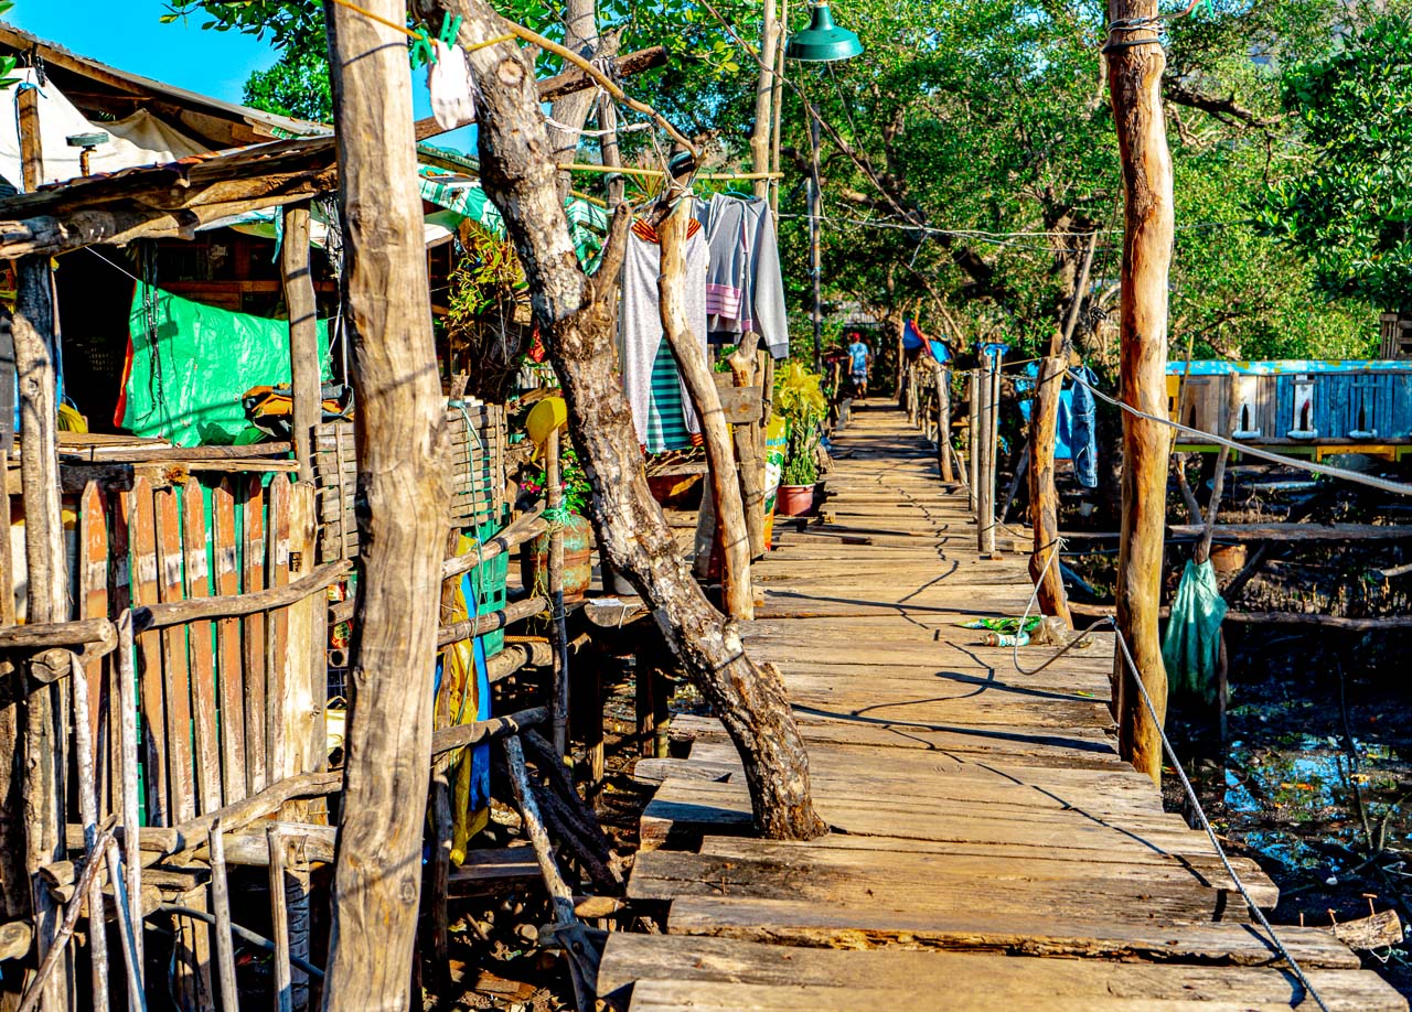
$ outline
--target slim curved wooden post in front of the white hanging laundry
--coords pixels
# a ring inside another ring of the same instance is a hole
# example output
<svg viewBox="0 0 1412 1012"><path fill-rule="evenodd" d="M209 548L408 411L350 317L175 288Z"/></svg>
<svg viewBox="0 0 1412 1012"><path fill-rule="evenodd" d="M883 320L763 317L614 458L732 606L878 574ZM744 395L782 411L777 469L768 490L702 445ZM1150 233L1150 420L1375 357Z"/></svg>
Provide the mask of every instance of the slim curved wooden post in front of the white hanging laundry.
<svg viewBox="0 0 1412 1012"><path fill-rule="evenodd" d="M699 343L700 335L693 335L686 320L683 289L689 222L690 202L682 200L658 230L662 240L662 275L658 281L662 329L681 366L682 380L700 418L702 436L706 440L712 497L716 504L716 536L722 548L726 614L748 621L755 617L755 597L750 584L750 535L746 531L746 508L740 498L730 426L726 425L716 380Z"/></svg>

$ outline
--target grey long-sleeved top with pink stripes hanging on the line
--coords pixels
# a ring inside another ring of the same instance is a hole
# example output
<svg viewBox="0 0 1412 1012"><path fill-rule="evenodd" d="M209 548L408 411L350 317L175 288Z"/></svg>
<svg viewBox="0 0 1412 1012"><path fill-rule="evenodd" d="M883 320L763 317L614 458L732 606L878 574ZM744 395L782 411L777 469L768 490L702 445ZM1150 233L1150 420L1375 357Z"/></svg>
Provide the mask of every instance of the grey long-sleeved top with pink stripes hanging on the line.
<svg viewBox="0 0 1412 1012"><path fill-rule="evenodd" d="M699 206L698 220L710 246L706 313L712 342L734 344L755 330L771 356L786 357L785 285L770 205L760 198L713 196Z"/></svg>

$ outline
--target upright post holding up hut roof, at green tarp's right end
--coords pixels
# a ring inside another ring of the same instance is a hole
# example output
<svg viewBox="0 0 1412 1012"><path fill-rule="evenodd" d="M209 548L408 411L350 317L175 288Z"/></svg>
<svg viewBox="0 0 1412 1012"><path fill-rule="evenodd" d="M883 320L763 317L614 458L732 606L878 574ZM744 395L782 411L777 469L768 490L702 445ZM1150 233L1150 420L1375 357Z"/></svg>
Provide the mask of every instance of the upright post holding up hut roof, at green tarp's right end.
<svg viewBox="0 0 1412 1012"><path fill-rule="evenodd" d="M284 302L289 309L291 419L299 481L313 481L313 429L323 419L318 301L309 264L309 202L285 205L280 247Z"/></svg>

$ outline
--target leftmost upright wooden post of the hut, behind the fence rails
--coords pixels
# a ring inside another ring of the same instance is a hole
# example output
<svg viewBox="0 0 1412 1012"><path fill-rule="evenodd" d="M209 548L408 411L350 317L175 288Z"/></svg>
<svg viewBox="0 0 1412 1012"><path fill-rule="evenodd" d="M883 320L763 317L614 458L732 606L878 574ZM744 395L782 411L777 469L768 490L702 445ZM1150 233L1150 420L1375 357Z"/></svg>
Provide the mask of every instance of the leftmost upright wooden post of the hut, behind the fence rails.
<svg viewBox="0 0 1412 1012"><path fill-rule="evenodd" d="M25 89L20 95L32 92ZM58 622L69 617L69 580L59 512L58 339L54 329L49 260L24 257L17 264L17 272L18 292L11 330L16 373L20 377L20 491L24 500L24 555L28 567L27 621ZM41 865L64 857L64 725L58 716L58 687L45 686L25 700L25 861L31 877ZM59 927L58 909L48 889L38 879L31 881L35 936L42 960ZM66 974L48 978L47 1009L61 1006L66 985Z"/></svg>

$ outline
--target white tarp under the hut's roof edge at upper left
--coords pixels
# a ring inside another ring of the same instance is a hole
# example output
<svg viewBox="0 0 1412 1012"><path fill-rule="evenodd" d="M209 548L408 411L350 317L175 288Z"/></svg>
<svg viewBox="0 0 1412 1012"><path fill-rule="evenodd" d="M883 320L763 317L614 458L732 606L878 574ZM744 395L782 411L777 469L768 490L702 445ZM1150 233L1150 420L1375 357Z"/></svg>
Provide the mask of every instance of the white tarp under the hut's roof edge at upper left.
<svg viewBox="0 0 1412 1012"><path fill-rule="evenodd" d="M11 75L21 83L0 90L0 175L16 189L21 185L20 171L20 127L16 110L16 96L24 85L35 85L32 68L17 69ZM40 138L44 150L44 182L59 182L82 175L79 169L79 148L69 147L68 138L75 134L104 133L106 144L95 148L89 171L116 172L134 165L161 165L179 158L202 154L209 148L186 137L175 127L162 123L145 110L140 110L116 123L90 123L72 102L45 80L40 88Z"/></svg>

